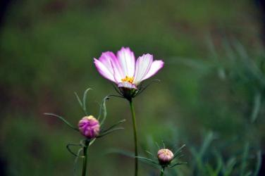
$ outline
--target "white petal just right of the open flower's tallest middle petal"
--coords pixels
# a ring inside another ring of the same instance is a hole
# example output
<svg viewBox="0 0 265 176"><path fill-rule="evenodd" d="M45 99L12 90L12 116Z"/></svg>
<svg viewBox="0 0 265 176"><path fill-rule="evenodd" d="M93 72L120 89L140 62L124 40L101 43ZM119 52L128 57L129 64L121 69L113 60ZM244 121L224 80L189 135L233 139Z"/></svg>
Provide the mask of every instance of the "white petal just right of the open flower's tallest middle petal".
<svg viewBox="0 0 265 176"><path fill-rule="evenodd" d="M151 54L144 54L137 58L136 65L135 65L135 80L134 84L139 84L143 78L149 72L153 62L153 56Z"/></svg>

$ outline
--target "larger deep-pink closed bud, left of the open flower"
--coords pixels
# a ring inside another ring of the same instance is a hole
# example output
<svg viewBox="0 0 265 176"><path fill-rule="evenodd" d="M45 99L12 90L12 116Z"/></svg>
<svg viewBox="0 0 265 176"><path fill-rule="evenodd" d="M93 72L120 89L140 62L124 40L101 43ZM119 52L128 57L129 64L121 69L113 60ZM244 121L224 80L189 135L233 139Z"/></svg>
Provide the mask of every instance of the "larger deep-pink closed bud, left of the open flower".
<svg viewBox="0 0 265 176"><path fill-rule="evenodd" d="M93 115L85 116L78 122L79 131L88 139L92 139L99 135L100 125L99 120Z"/></svg>

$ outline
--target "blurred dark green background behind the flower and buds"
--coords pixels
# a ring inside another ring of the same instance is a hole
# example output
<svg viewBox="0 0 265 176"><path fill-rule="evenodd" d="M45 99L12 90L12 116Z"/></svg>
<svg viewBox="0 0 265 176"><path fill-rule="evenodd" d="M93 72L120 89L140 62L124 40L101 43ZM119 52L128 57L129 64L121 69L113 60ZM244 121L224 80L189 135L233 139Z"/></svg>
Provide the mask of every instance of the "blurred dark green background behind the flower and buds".
<svg viewBox="0 0 265 176"><path fill-rule="evenodd" d="M77 124L83 114L73 92L88 87L88 111L115 93L93 58L129 46L154 54L164 68L135 99L140 153L186 144L167 175L264 175L265 77L257 1L10 1L0 33L0 175L73 175L66 144L82 137L56 118ZM106 104L106 125L125 130L97 140L90 175L132 175L128 103ZM262 157L263 156L263 157ZM79 168L80 170L80 168ZM78 173L79 174L79 173ZM140 163L140 175L158 175Z"/></svg>

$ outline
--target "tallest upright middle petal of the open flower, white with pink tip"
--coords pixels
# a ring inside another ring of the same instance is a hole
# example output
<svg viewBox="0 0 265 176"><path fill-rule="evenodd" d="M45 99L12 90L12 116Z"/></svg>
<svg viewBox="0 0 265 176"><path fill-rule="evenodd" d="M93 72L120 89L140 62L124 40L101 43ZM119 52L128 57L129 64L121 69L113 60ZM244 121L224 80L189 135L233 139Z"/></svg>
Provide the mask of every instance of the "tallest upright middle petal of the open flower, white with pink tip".
<svg viewBox="0 0 265 176"><path fill-rule="evenodd" d="M117 53L118 62L125 76L133 77L135 74L135 54L130 51L130 48L122 47Z"/></svg>

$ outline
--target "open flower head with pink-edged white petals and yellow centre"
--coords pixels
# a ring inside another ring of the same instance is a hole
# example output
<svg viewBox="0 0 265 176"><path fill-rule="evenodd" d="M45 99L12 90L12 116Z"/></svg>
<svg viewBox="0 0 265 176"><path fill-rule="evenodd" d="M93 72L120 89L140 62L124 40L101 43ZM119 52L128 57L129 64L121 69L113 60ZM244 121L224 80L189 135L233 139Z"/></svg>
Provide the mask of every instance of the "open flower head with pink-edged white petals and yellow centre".
<svg viewBox="0 0 265 176"><path fill-rule="evenodd" d="M135 54L127 47L122 47L117 54L106 51L99 59L94 58L99 73L108 80L115 82L118 87L137 89L143 80L155 75L164 62L153 59L152 54L143 54L135 61Z"/></svg>

